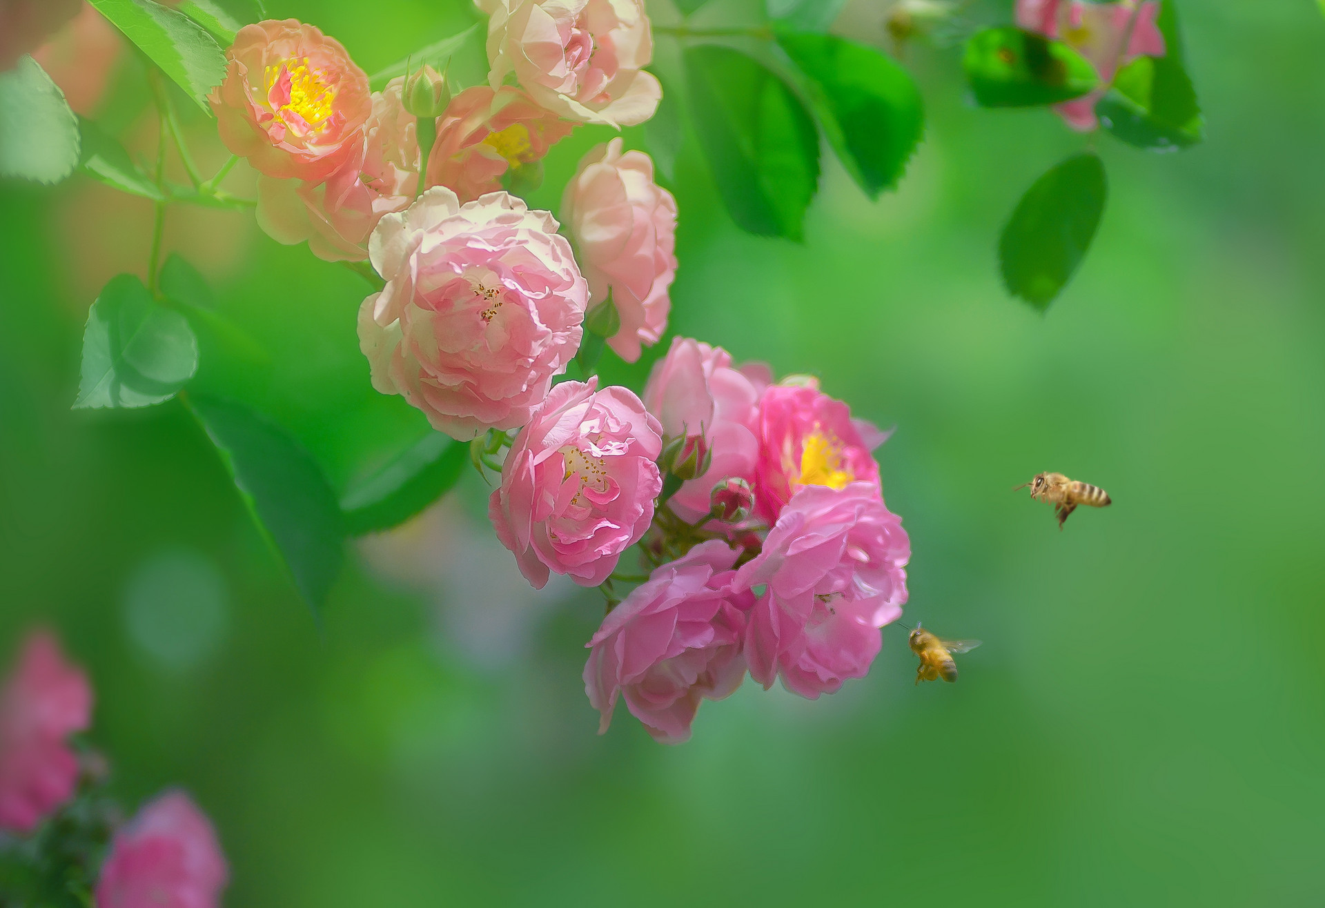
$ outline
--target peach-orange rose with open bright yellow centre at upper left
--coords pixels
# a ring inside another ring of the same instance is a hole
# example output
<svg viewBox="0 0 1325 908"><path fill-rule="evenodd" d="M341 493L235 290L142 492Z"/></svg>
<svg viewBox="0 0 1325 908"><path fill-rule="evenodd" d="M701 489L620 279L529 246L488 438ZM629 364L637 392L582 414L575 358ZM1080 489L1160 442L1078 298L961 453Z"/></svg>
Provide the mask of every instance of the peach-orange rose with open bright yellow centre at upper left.
<svg viewBox="0 0 1325 908"><path fill-rule="evenodd" d="M341 42L298 20L245 25L208 101L232 152L268 176L321 183L360 147L368 77Z"/></svg>

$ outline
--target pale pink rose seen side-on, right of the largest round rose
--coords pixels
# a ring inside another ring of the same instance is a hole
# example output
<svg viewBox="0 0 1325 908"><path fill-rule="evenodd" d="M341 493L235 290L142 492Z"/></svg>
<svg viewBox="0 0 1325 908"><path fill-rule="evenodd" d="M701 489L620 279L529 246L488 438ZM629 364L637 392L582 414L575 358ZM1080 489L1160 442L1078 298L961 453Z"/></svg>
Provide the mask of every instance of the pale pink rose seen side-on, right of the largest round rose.
<svg viewBox="0 0 1325 908"><path fill-rule="evenodd" d="M607 343L628 363L666 330L676 278L676 199L643 151L612 139L584 155L566 184L562 219L579 247L590 308L612 294L621 329Z"/></svg>

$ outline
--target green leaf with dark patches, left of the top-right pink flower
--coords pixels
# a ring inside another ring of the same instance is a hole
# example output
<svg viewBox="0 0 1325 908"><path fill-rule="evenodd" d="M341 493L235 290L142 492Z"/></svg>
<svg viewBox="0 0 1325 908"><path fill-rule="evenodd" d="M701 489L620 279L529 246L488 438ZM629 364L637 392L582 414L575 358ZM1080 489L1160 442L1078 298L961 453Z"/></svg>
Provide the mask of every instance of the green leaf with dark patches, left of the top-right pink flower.
<svg viewBox="0 0 1325 908"><path fill-rule="evenodd" d="M984 107L1060 103L1100 87L1100 74L1076 50L1011 27L973 34L962 65Z"/></svg>

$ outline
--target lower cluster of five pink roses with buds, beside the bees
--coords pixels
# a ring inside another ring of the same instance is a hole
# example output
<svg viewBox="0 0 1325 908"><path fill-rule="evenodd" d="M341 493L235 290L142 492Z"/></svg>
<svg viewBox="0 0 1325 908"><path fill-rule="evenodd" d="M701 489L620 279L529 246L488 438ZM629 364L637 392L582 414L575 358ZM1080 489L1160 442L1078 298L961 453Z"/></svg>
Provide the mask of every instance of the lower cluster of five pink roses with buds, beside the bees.
<svg viewBox="0 0 1325 908"><path fill-rule="evenodd" d="M588 643L603 729L624 699L653 737L685 741L700 701L746 672L815 699L869 671L906 602L910 557L871 455L882 440L814 380L772 384L766 367L688 338L643 400L594 382L553 390L489 513L535 586L550 573L611 585L641 541L656 565ZM660 452L678 443L708 463L664 492Z"/></svg>

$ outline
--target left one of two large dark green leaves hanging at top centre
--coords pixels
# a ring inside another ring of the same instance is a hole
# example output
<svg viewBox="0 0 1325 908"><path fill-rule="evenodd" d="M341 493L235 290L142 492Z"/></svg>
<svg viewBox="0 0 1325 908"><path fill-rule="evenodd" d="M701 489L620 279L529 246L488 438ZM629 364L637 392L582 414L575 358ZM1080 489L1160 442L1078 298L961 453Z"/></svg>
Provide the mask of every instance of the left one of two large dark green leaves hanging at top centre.
<svg viewBox="0 0 1325 908"><path fill-rule="evenodd" d="M743 53L685 52L690 111L731 220L750 233L800 240L819 188L819 134L787 85Z"/></svg>

